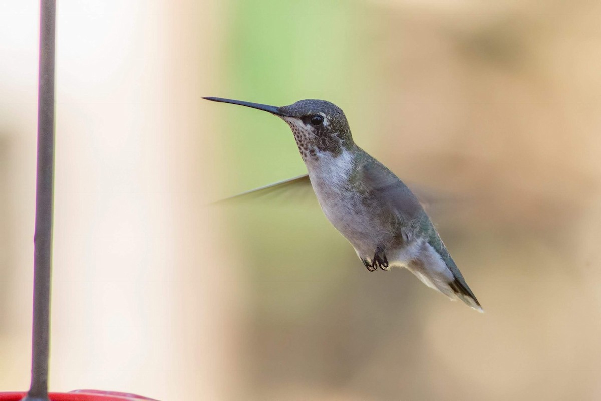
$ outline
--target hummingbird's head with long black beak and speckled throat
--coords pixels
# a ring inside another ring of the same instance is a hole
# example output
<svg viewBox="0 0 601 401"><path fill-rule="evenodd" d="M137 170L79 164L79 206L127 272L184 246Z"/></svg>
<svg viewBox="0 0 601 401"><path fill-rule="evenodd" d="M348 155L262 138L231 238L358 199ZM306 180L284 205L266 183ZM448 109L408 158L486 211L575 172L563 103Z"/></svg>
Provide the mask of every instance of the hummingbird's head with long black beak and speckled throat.
<svg viewBox="0 0 601 401"><path fill-rule="evenodd" d="M268 106L240 100L204 97L213 102L233 103L268 111L286 121L304 161L317 159L323 153L338 156L353 146L349 123L344 112L334 103L325 100L299 100L289 106Z"/></svg>

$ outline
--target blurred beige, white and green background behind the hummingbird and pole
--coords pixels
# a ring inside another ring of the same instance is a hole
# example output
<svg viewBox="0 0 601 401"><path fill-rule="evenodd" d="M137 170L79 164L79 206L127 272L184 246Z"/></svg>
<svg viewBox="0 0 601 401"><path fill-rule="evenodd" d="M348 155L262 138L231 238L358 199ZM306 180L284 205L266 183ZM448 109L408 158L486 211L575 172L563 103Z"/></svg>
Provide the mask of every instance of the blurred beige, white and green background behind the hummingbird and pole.
<svg viewBox="0 0 601 401"><path fill-rule="evenodd" d="M31 341L38 2L0 2L0 391ZM160 400L601 399L601 3L64 0L50 388ZM486 314L369 273L288 127L326 99Z"/></svg>

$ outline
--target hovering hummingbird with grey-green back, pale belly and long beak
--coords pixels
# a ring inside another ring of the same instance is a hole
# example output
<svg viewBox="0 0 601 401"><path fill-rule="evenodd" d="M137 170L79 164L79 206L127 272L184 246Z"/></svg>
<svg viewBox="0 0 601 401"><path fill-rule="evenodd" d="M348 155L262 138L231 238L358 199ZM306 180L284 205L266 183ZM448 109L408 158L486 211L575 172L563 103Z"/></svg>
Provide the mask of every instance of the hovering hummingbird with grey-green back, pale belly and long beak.
<svg viewBox="0 0 601 401"><path fill-rule="evenodd" d="M203 99L267 111L290 126L308 174L281 185L308 180L326 218L349 240L368 271L406 268L453 301L461 299L484 311L418 198L355 144L338 106L314 99L281 107Z"/></svg>

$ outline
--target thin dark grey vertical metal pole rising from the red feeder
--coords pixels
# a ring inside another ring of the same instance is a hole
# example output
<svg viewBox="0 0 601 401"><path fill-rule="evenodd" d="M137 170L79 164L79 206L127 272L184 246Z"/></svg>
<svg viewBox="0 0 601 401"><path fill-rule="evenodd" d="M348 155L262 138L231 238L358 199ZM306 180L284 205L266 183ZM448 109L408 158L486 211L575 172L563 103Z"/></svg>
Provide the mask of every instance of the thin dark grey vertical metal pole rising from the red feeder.
<svg viewBox="0 0 601 401"><path fill-rule="evenodd" d="M34 302L31 386L25 400L48 400L52 192L54 170L54 0L40 0L40 69L35 182Z"/></svg>

